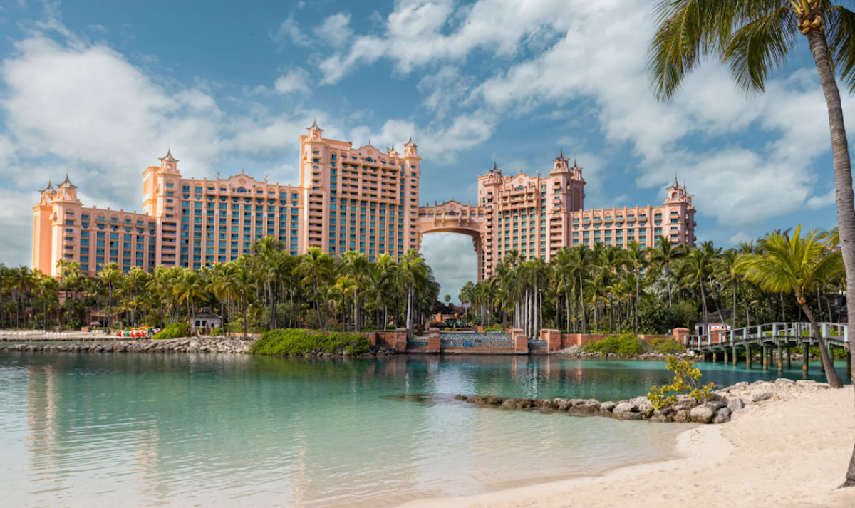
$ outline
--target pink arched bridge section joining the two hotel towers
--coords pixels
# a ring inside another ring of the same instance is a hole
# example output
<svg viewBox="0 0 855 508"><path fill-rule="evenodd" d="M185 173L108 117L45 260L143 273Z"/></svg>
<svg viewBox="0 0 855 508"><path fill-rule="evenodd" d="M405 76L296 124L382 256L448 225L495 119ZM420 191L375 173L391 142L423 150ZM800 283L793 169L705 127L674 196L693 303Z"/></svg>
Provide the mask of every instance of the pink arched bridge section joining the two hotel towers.
<svg viewBox="0 0 855 508"><path fill-rule="evenodd" d="M451 200L443 204L419 207L419 245L427 233L458 233L468 235L478 258L478 280L484 273L484 247L486 236L486 213L483 206L472 206Z"/></svg>

